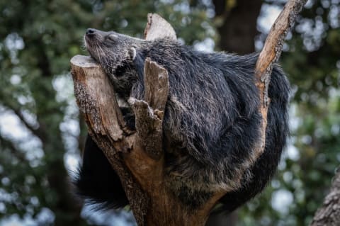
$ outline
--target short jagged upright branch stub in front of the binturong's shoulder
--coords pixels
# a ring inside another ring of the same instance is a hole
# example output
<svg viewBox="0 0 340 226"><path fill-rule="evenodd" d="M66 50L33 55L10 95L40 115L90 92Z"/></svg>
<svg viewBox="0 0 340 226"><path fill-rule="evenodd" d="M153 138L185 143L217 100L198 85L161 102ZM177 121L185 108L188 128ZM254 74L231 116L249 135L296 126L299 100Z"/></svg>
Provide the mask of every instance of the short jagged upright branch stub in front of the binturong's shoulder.
<svg viewBox="0 0 340 226"><path fill-rule="evenodd" d="M169 77L164 67L145 60L145 101L130 98L129 103L136 115L138 142L149 157L159 160L162 155L163 116L169 94ZM155 110L153 110L155 109Z"/></svg>

